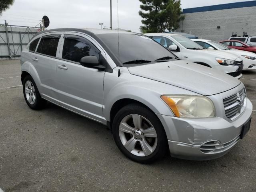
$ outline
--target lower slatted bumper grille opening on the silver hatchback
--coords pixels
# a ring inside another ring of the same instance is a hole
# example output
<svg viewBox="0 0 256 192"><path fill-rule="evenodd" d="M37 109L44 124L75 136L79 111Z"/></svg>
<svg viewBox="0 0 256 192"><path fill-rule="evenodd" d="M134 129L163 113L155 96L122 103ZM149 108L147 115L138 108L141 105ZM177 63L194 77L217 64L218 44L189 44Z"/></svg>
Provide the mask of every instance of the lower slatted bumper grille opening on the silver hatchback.
<svg viewBox="0 0 256 192"><path fill-rule="evenodd" d="M219 141L208 141L200 147L203 153L219 153L226 151L234 146L240 139L240 135L229 142L221 144Z"/></svg>

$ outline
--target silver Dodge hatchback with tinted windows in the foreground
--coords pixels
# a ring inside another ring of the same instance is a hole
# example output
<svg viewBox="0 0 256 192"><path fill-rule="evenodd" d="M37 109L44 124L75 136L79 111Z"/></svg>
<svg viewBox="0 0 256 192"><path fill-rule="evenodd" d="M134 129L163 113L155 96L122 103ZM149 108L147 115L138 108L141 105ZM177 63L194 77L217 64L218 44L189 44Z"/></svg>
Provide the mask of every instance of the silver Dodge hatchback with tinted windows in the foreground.
<svg viewBox="0 0 256 192"><path fill-rule="evenodd" d="M118 41L119 40L119 41ZM176 58L142 34L62 28L36 34L21 55L24 98L107 125L128 158L209 160L250 128L244 84Z"/></svg>

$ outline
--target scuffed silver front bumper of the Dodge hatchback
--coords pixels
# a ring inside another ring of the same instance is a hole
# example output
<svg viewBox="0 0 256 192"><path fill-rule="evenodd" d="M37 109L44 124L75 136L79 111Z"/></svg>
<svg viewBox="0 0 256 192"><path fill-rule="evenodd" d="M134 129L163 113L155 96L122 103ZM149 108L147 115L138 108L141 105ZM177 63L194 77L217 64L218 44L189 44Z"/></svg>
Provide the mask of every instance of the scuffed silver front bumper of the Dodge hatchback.
<svg viewBox="0 0 256 192"><path fill-rule="evenodd" d="M226 154L239 140L242 126L251 118L252 103L246 98L244 112L234 121L224 118L185 119L158 115L164 125L170 154L188 160L210 160ZM213 153L200 150L203 144L218 141L223 147Z"/></svg>

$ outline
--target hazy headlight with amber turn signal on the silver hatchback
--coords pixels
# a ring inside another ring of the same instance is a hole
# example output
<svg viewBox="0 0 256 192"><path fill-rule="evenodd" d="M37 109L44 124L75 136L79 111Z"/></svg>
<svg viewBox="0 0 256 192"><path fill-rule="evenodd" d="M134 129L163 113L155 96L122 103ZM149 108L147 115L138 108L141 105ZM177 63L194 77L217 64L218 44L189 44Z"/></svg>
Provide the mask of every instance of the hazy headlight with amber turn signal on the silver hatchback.
<svg viewBox="0 0 256 192"><path fill-rule="evenodd" d="M176 117L209 118L216 116L214 104L204 96L162 95L161 98Z"/></svg>

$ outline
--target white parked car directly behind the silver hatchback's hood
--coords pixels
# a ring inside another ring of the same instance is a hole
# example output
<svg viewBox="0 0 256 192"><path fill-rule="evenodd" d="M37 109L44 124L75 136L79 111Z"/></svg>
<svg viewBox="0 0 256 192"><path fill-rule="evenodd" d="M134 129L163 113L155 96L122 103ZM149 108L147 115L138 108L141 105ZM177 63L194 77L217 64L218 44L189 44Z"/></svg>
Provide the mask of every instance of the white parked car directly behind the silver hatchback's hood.
<svg viewBox="0 0 256 192"><path fill-rule="evenodd" d="M178 58L225 72L235 78L242 77L243 59L237 55L204 49L194 41L170 33L145 34L172 51Z"/></svg>

